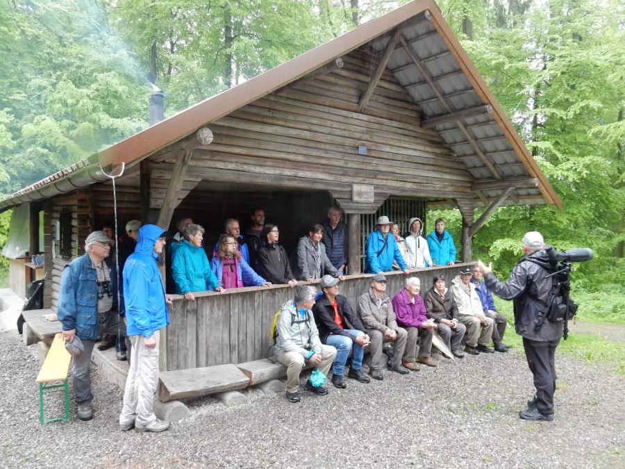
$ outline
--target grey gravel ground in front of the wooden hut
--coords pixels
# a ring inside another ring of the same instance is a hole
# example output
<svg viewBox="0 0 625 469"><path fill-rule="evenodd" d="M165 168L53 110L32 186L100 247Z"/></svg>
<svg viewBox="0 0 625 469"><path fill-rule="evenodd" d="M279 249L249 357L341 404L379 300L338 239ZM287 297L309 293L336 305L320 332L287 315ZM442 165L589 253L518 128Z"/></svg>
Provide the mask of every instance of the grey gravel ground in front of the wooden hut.
<svg viewBox="0 0 625 469"><path fill-rule="evenodd" d="M40 425L34 347L0 333L0 466L19 467L625 467L622 378L561 354L553 422L525 422L531 374L519 351L467 358L326 397L251 391L227 409L190 404L163 434L122 432L122 393L95 370L96 418ZM425 368L425 367L423 367ZM57 397L51 397L51 403Z"/></svg>

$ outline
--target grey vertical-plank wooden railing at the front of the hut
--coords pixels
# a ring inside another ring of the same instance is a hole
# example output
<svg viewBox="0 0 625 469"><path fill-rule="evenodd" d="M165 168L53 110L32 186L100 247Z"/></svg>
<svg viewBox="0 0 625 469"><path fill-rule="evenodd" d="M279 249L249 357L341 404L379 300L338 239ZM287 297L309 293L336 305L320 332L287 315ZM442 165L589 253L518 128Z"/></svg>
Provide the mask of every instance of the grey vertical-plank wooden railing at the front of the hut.
<svg viewBox="0 0 625 469"><path fill-rule="evenodd" d="M431 286L433 277L443 274L448 286L462 265L414 269L410 277L419 277L422 294ZM403 272L388 272L387 294L393 297L406 279ZM347 275L339 283L356 309L360 295L369 290L372 274ZM303 282L302 282L303 283ZM225 363L244 363L265 358L273 340L269 329L276 311L292 299L292 288L271 287L233 288L226 293L201 292L189 301L174 295L169 308L169 326L162 335L160 347L161 370L183 370Z"/></svg>

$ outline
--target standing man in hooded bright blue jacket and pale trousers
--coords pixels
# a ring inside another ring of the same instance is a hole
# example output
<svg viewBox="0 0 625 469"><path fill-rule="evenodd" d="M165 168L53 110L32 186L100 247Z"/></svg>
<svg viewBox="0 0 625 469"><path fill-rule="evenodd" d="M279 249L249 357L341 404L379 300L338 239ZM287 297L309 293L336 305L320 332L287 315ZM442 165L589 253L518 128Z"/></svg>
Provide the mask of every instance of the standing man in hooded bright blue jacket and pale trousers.
<svg viewBox="0 0 625 469"><path fill-rule="evenodd" d="M135 252L124 266L126 328L131 340L131 367L126 377L124 405L119 415L122 430L163 431L167 420L158 420L153 412L154 392L158 384L158 343L160 329L169 324L163 279L158 271L158 254L163 252L167 233L153 224L139 230Z"/></svg>

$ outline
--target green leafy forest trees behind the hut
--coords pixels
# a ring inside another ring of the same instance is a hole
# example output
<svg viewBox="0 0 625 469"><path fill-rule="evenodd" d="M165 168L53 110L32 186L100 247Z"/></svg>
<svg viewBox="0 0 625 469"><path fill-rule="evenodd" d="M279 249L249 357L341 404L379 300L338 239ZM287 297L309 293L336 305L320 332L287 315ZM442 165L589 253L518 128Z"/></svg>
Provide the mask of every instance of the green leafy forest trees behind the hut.
<svg viewBox="0 0 625 469"><path fill-rule="evenodd" d="M148 73L172 115L403 3L0 0L0 197L144 129ZM499 208L474 258L505 277L528 230L592 247L574 296L586 318L625 323L625 3L438 5L563 204ZM431 211L428 225L440 215L460 240L458 211Z"/></svg>

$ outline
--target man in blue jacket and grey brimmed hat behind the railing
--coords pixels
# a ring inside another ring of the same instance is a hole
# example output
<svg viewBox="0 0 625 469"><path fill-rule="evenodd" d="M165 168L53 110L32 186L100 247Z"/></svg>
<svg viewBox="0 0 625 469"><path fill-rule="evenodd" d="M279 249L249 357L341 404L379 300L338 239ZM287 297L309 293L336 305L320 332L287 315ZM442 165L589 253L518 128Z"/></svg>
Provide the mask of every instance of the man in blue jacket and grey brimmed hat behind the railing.
<svg viewBox="0 0 625 469"><path fill-rule="evenodd" d="M393 259L408 274L408 266L399 251L399 246L393 235L389 235L392 222L388 217L379 217L376 231L367 238L367 274L379 274L393 270Z"/></svg>

